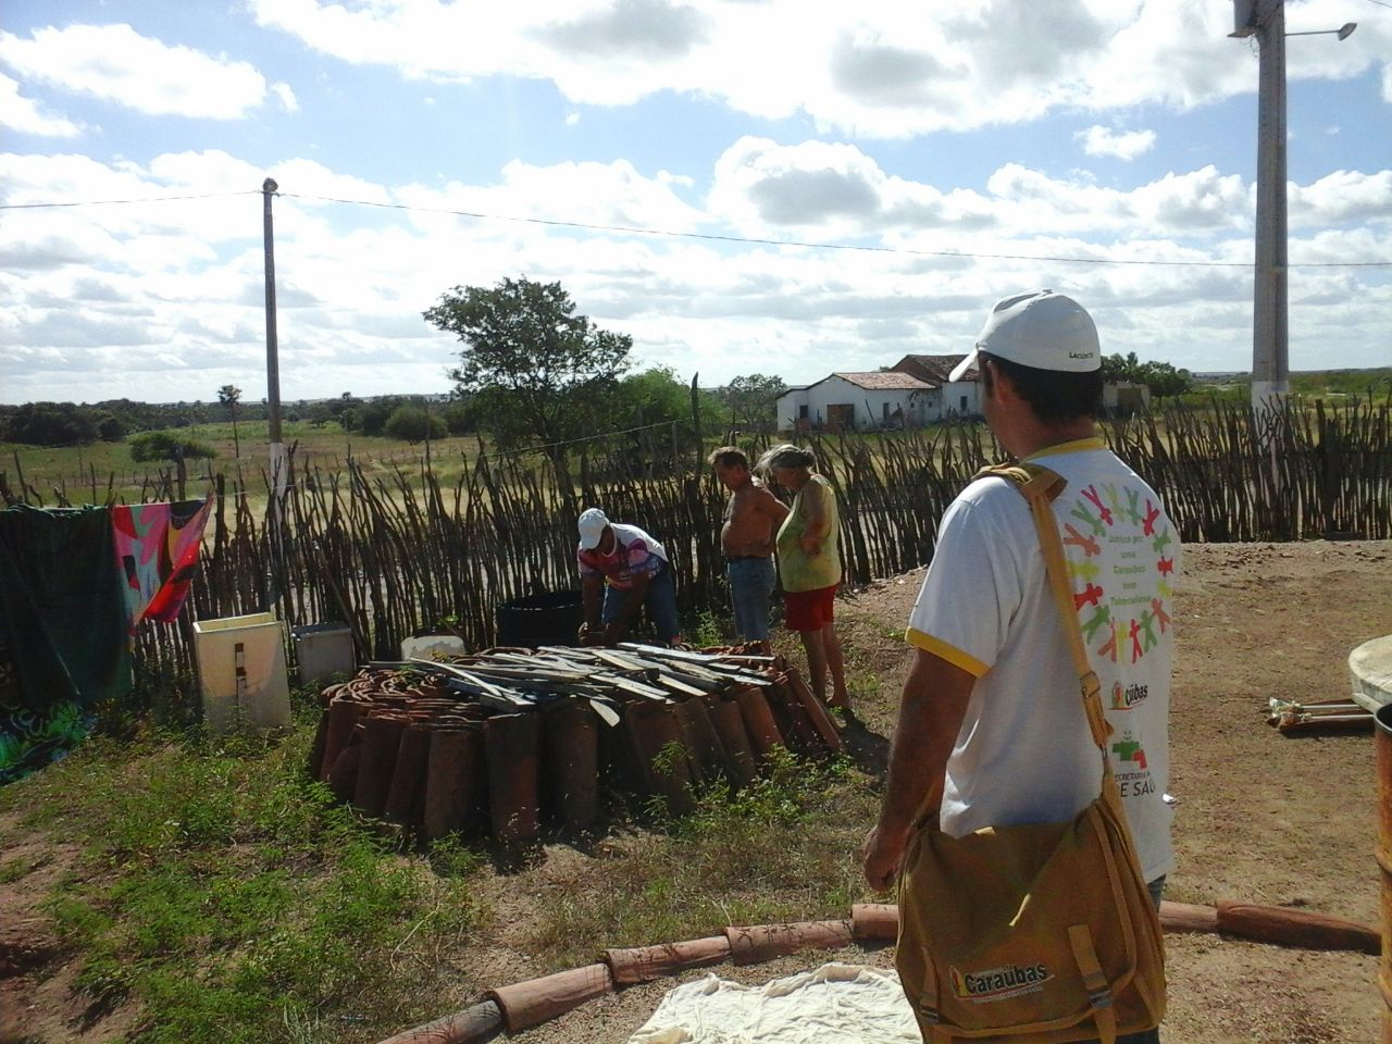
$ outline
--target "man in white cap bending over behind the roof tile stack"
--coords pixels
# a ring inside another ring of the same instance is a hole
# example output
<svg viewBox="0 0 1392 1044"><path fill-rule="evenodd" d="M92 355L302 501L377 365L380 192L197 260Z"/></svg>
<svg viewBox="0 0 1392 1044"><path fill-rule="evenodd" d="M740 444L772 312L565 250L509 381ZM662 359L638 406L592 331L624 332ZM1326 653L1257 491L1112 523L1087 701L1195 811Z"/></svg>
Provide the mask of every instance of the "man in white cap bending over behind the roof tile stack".
<svg viewBox="0 0 1392 1044"><path fill-rule="evenodd" d="M580 512L575 553L585 596L580 644L614 644L628 635L638 610L647 607L657 640L679 644L677 589L667 548L638 526L610 522L599 508Z"/></svg>

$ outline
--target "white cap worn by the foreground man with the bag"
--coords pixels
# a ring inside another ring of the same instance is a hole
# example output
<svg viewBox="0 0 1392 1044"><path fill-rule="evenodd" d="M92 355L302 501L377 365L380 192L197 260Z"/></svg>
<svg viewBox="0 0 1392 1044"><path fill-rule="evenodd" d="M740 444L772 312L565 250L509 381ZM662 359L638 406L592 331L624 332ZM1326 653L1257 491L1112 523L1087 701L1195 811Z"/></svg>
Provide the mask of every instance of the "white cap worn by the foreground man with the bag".
<svg viewBox="0 0 1392 1044"><path fill-rule="evenodd" d="M948 380L962 380L962 374L976 366L979 352L1062 373L1090 373L1102 365L1093 317L1073 298L1052 290L1036 290L997 302L976 338L976 347L952 367Z"/></svg>

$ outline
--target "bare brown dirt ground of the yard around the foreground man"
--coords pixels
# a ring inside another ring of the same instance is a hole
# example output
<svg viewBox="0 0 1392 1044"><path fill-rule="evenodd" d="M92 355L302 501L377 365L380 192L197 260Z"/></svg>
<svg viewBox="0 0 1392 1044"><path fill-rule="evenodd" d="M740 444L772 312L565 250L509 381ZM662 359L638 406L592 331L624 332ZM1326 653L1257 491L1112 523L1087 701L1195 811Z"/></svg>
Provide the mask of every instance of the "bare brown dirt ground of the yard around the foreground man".
<svg viewBox="0 0 1392 1044"><path fill-rule="evenodd" d="M1392 541L1201 544L1186 547L1185 555L1169 788L1179 799L1179 864L1166 896L1210 905L1240 899L1378 924L1371 732L1286 738L1264 718L1274 696L1345 696L1349 651L1392 633ZM883 764L908 664L898 635L920 580L922 574L878 580L838 608L853 672L878 679L863 686L873 692L859 704L866 731L856 739L857 761L880 759ZM548 849L546 876L564 887L567 874L578 871L569 866L575 859L579 855L572 849ZM42 881L28 884L38 888ZM13 974L7 963L25 963L24 947L52 945L42 924L22 916L18 923L14 916L0 922L0 1012L15 1015L15 1004L46 1006L32 987L25 991L19 981L6 980ZM713 924L710 931L722 927ZM1171 937L1168 955L1164 1033L1169 1044L1371 1044L1378 1038L1384 1006L1378 958L1217 935ZM498 986L537 973L525 954L493 956L490 979ZM828 960L888 966L892 948L813 952L710 970L764 983ZM619 1044L668 990L704 974L592 1001L521 1040ZM45 988L65 992L65 986L60 972ZM29 1008L29 1015L38 1012ZM111 1040L129 1025L129 1015L93 1012L96 1025L88 1033L38 1038ZM0 1018L0 1041L11 1038Z"/></svg>

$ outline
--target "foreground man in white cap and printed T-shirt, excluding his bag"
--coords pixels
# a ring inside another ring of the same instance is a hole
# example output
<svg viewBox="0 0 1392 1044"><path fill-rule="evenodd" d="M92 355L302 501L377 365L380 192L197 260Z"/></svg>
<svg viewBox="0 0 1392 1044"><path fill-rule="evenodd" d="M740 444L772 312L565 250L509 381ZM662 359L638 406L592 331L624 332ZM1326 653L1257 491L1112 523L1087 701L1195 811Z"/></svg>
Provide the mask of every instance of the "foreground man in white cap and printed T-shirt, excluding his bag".
<svg viewBox="0 0 1392 1044"><path fill-rule="evenodd" d="M1179 535L1155 491L1098 437L1101 351L1077 302L1047 290L1001 301L951 380L972 367L1001 445L1068 483L1054 515L1102 683L1108 754L1158 903L1173 864L1162 796ZM937 812L952 837L1066 821L1097 798L1102 778L1037 530L1009 480L979 477L944 512L906 638L916 658L863 853L877 889L898 878L920 813ZM1158 1040L1158 1030L1118 1037Z"/></svg>

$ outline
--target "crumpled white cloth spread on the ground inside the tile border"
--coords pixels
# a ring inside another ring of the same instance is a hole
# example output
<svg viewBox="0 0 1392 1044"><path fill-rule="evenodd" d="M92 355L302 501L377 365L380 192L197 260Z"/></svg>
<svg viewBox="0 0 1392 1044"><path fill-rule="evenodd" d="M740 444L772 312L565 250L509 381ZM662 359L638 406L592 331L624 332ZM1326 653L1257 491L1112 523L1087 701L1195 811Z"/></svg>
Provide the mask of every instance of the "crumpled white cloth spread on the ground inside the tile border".
<svg viewBox="0 0 1392 1044"><path fill-rule="evenodd" d="M892 969L823 965L764 986L679 986L628 1044L919 1044Z"/></svg>

